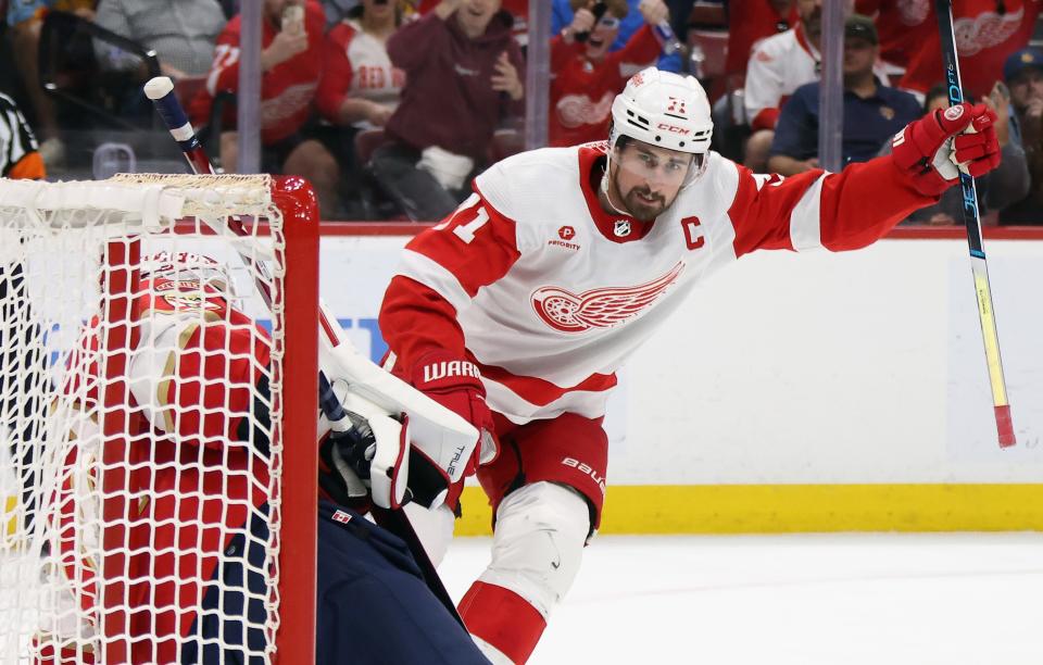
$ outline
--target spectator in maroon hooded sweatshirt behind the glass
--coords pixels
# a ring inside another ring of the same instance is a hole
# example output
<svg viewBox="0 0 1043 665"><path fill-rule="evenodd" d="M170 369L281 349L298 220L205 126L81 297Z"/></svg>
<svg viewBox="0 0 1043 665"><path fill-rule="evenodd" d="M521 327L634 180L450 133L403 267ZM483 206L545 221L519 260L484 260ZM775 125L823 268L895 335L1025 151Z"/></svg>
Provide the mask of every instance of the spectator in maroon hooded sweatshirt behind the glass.
<svg viewBox="0 0 1043 665"><path fill-rule="evenodd" d="M524 63L500 0L442 0L388 39L402 101L374 174L412 219L440 219L488 161L497 126L524 111Z"/></svg>

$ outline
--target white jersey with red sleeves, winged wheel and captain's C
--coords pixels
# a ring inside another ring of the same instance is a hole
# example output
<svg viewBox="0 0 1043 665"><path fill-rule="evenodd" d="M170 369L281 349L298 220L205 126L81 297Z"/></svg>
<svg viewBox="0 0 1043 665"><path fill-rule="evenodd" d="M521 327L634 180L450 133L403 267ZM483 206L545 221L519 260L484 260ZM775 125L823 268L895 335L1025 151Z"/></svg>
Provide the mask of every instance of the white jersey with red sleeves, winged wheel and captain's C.
<svg viewBox="0 0 1043 665"><path fill-rule="evenodd" d="M601 209L604 150L508 158L410 242L380 313L395 372L447 350L478 364L490 407L515 423L599 417L616 369L700 280L755 249L864 247L933 201L890 156L783 179L712 152L643 223Z"/></svg>

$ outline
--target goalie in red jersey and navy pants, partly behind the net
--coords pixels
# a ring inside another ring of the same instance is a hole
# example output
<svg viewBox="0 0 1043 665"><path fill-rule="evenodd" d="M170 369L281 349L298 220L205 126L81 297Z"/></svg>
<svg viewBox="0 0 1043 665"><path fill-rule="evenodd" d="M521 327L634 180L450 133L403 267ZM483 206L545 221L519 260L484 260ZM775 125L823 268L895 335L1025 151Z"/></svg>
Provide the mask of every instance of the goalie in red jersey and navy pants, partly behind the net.
<svg viewBox="0 0 1043 665"><path fill-rule="evenodd" d="M127 661L267 662L267 550L277 542L267 489L272 341L234 299L224 266L206 256L143 261L131 309L148 343L129 354L129 394L120 406L130 451L127 517L106 522L105 534L97 488L113 473L100 454L106 361L101 324L85 327L54 404L55 422L70 424L72 436L52 451L62 473L47 492L47 538L58 561L48 575L64 607L34 637L35 662L103 660L110 606L99 599L110 568L98 569L99 554L118 557L127 573ZM428 468L409 478L407 418L336 377L321 375L319 386L317 662L487 663L425 586L405 544L363 516L369 501L406 500L407 484L437 502L454 475L443 470L451 462L419 451L414 464Z"/></svg>

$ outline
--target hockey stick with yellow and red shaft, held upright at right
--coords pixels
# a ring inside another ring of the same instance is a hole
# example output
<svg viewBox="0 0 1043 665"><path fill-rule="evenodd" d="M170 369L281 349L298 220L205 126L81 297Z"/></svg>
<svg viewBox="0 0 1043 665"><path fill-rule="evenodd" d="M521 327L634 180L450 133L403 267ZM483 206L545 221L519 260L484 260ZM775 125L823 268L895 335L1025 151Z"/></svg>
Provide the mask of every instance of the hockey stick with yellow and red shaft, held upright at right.
<svg viewBox="0 0 1043 665"><path fill-rule="evenodd" d="M942 41L942 60L945 65L948 103L956 105L964 101L964 91L959 77L956 38L953 33L952 0L935 0L934 11L938 13L938 29ZM1003 362L1000 359L1000 336L996 332L996 314L992 306L989 265L985 263L985 250L982 248L978 190L975 187L975 179L963 170L959 173L959 185L964 191L964 224L967 226L967 243L970 246L970 267L975 275L978 317L981 323L981 337L985 344L985 363L989 366L989 381L992 386L992 404L996 414L1000 447L1009 448L1017 443L1017 440L1014 436L1014 424L1010 419L1007 385L1003 378Z"/></svg>

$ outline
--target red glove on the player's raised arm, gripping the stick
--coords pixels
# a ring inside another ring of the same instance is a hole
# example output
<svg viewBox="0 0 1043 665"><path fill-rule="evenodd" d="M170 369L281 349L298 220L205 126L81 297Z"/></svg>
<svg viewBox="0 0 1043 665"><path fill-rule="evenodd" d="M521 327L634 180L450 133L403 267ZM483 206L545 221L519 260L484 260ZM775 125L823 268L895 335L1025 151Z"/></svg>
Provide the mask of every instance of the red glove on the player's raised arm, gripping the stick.
<svg viewBox="0 0 1043 665"><path fill-rule="evenodd" d="M938 197L958 181L960 172L977 178L1000 165L995 121L984 104L939 109L896 134L891 156L917 191Z"/></svg>

